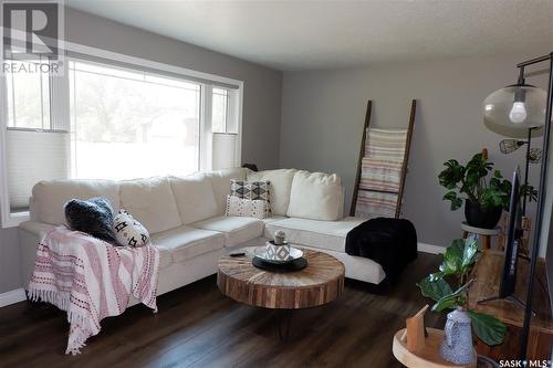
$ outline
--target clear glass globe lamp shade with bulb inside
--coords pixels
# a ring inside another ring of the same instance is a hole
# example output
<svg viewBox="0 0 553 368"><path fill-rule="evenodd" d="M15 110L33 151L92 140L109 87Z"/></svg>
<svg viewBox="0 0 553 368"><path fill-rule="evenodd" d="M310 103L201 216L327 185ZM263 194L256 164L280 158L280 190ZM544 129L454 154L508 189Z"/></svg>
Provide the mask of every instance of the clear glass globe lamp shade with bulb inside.
<svg viewBox="0 0 553 368"><path fill-rule="evenodd" d="M535 128L545 123L547 93L515 84L493 92L483 102L484 122L511 128Z"/></svg>

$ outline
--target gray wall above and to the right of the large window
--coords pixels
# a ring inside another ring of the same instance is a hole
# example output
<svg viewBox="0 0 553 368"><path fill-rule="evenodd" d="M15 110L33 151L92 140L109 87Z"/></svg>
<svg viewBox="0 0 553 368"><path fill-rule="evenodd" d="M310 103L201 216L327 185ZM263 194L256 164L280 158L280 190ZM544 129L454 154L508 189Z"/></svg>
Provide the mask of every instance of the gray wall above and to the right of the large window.
<svg viewBox="0 0 553 368"><path fill-rule="evenodd" d="M242 161L279 165L282 72L67 9L70 42L244 81ZM0 199L1 200L1 199ZM0 229L0 293L21 287L17 229Z"/></svg>

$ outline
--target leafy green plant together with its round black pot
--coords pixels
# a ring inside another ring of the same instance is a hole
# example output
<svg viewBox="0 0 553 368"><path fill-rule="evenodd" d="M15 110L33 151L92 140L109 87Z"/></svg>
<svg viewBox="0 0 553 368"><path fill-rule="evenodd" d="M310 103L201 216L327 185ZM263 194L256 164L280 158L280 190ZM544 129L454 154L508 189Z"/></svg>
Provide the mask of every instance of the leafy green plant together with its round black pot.
<svg viewBox="0 0 553 368"><path fill-rule="evenodd" d="M465 194L465 217L471 227L493 229L503 209L509 209L511 182L494 170L488 161L487 151L476 154L462 166L456 159L444 162L446 169L438 176L441 186L449 191L444 200L451 201L451 210L462 206ZM490 177L491 174L491 177Z"/></svg>

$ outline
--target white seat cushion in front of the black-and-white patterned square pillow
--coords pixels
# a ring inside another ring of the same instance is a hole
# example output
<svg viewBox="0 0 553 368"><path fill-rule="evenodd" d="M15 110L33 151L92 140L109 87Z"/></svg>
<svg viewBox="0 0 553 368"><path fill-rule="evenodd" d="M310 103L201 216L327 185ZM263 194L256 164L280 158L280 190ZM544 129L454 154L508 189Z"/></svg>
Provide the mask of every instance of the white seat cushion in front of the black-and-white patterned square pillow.
<svg viewBox="0 0 553 368"><path fill-rule="evenodd" d="M222 232L226 248L261 236L263 225L263 221L258 219L223 215L191 224L194 228Z"/></svg>

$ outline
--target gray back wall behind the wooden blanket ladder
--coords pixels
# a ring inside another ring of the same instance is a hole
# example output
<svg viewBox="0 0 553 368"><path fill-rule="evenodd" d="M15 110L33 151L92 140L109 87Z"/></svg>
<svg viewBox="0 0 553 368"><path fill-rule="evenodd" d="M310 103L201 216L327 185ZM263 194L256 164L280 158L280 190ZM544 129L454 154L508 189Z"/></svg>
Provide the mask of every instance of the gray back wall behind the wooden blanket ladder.
<svg viewBox="0 0 553 368"><path fill-rule="evenodd" d="M437 175L449 158L465 161L488 147L491 161L511 176L523 166L522 149L504 156L503 139L482 124L488 94L515 82L517 62L528 55L389 63L371 67L286 72L283 85L281 166L337 172L349 207L367 98L373 99L372 126L397 127L408 122L410 99L418 101L406 179L404 214L419 241L448 245L461 234L461 210L441 200ZM544 77L529 80L538 85ZM540 143L538 143L540 144ZM531 182L538 185L533 167ZM531 208L532 209L532 208Z"/></svg>

